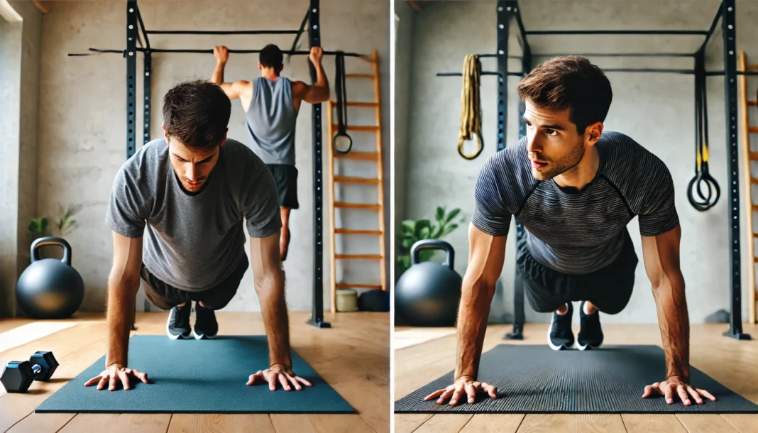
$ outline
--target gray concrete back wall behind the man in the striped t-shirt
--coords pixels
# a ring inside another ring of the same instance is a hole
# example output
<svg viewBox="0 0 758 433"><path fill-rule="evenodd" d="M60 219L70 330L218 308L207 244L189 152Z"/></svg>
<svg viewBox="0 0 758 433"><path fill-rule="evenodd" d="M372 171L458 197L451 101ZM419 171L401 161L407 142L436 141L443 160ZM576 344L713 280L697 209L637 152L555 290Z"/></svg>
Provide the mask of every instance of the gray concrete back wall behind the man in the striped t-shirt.
<svg viewBox="0 0 758 433"><path fill-rule="evenodd" d="M693 5L697 4L697 8ZM719 7L718 1L699 2L554 2L531 0L520 8L528 30L590 29L695 29L706 30ZM413 89L410 101L406 211L396 218L431 217L436 206L461 207L467 220L474 206L473 188L479 168L496 150L496 78L483 77L484 152L465 161L456 151L461 90L459 77L435 77L442 71L460 71L465 55L493 53L496 49L496 2L424 2L417 13L412 38ZM748 59L758 57L758 30L750 17L758 14L758 3L738 1L738 49ZM550 13L545 13L550 11ZM717 31L707 51L708 67L723 69L722 36ZM529 36L533 52L694 52L702 36ZM515 38L509 41L509 55L520 55ZM534 58L535 64L546 58ZM590 58L600 67L691 68L687 58ZM512 71L520 69L518 58L511 60ZM493 71L493 59L482 59L484 71ZM606 130L627 133L658 155L672 171L676 187L676 207L681 218L681 267L687 282L688 306L692 322L729 306L729 241L727 218L727 178L724 120L724 81L708 80L708 115L711 173L719 181L722 197L709 212L697 212L687 199L687 185L694 174L694 78L679 74L609 73L614 100L606 119ZM509 79L507 143L518 139L518 77ZM751 81L755 94L756 80ZM755 115L751 111L755 124ZM742 152L742 151L741 151ZM742 164L742 162L741 162ZM744 179L744 166L740 165ZM741 186L744 185L741 184ZM744 188L744 187L743 187ZM744 192L744 190L743 190ZM742 203L748 206L747 202ZM746 235L744 212L741 240ZM628 226L637 255L642 257L639 226L635 218ZM512 319L513 236L509 236L502 287L493 301L490 320ZM456 248L456 269L463 274L468 256L465 227L448 240ZM742 258L743 299L747 300L747 268L752 260L744 248ZM612 287L609 287L612 290ZM744 302L743 317L747 314ZM547 321L549 315L532 312L528 321ZM637 268L635 290L628 307L605 322L656 322L656 309L644 266Z"/></svg>

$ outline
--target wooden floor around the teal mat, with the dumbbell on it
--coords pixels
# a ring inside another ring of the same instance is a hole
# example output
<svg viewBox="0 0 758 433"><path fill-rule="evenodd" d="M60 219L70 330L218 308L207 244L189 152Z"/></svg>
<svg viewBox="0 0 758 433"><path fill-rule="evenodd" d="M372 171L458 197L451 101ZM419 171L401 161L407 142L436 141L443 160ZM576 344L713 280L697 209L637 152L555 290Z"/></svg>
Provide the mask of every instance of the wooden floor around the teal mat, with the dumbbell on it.
<svg viewBox="0 0 758 433"><path fill-rule="evenodd" d="M6 394L0 387L0 431L390 431L390 317L387 313L326 314L331 329L306 325L306 312L290 313L293 350L327 381L356 415L70 414L33 413L34 408L92 365L106 350L102 313L77 313L77 325L0 353L0 366L52 350L60 363L52 381L35 381L27 394ZM164 334L167 312L137 313L132 334ZM0 319L0 332L28 323ZM265 334L261 315L218 312L221 333ZM0 334L2 338L2 334Z"/></svg>

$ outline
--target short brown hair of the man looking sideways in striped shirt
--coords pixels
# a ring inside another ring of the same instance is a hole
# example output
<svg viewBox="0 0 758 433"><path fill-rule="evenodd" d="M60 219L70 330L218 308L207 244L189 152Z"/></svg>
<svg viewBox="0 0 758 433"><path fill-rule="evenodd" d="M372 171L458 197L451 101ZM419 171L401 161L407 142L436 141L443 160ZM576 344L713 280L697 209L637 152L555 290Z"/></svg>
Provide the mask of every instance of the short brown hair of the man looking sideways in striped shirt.
<svg viewBox="0 0 758 433"><path fill-rule="evenodd" d="M600 67L566 55L535 67L518 84L518 97L551 111L570 108L569 119L581 135L590 124L606 120L613 92Z"/></svg>

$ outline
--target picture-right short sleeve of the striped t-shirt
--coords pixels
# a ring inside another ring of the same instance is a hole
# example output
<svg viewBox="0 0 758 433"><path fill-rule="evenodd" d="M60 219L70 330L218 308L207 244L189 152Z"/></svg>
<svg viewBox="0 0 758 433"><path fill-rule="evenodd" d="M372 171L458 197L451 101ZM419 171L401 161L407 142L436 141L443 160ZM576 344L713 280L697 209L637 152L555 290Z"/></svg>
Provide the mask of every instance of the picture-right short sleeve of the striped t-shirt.
<svg viewBox="0 0 758 433"><path fill-rule="evenodd" d="M640 210L640 234L657 236L679 224L674 201L674 181L669 168L658 158L644 177L645 191Z"/></svg>

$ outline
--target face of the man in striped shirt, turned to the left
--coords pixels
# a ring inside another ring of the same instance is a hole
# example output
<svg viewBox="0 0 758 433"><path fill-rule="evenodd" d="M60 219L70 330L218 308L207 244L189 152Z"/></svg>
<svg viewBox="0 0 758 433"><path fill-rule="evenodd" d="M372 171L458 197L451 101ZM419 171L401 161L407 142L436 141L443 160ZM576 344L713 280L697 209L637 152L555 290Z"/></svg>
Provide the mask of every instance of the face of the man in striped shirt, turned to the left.
<svg viewBox="0 0 758 433"><path fill-rule="evenodd" d="M547 111L527 101L524 118L531 174L549 180L574 168L584 158L584 136L569 120L570 109Z"/></svg>

